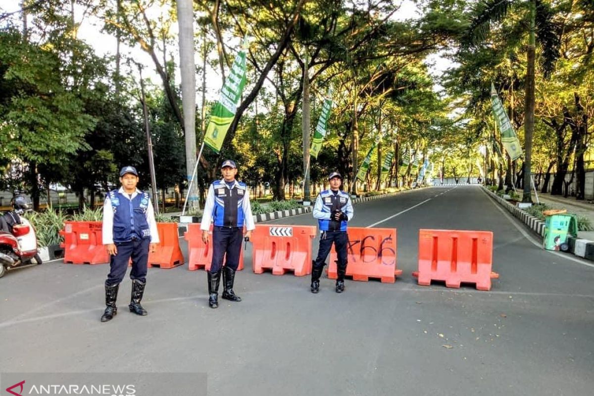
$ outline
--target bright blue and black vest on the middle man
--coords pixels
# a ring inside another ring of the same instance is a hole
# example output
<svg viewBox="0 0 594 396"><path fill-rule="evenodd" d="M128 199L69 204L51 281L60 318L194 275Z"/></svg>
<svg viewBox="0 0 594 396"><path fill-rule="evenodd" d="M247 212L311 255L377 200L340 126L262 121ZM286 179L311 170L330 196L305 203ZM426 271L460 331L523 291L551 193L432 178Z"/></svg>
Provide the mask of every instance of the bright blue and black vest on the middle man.
<svg viewBox="0 0 594 396"><path fill-rule="evenodd" d="M245 183L236 181L233 188L229 188L225 180L214 180L213 222L219 227L243 227L244 198L247 194Z"/></svg>

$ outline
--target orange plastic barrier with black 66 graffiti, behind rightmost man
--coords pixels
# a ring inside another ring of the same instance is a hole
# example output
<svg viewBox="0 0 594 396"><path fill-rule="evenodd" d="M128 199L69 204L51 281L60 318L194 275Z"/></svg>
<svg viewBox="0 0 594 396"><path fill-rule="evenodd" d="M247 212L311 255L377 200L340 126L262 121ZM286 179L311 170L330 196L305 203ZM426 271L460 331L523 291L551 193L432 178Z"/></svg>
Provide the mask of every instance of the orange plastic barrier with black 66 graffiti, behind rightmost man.
<svg viewBox="0 0 594 396"><path fill-rule="evenodd" d="M383 283L394 283L402 274L396 266L396 229L349 227L347 230L346 275L353 280L368 281L379 278ZM333 248L330 252L328 278L336 279L336 261L338 256Z"/></svg>

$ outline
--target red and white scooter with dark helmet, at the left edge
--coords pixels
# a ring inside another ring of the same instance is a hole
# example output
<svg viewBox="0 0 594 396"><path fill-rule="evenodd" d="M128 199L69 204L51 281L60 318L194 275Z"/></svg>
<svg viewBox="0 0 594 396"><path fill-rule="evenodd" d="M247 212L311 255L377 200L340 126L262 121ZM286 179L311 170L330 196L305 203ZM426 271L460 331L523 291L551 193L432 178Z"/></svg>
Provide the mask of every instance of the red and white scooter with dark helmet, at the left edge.
<svg viewBox="0 0 594 396"><path fill-rule="evenodd" d="M27 264L43 264L37 253L37 236L29 220L21 216L31 210L30 199L12 198L12 210L0 216L0 278L9 268Z"/></svg>

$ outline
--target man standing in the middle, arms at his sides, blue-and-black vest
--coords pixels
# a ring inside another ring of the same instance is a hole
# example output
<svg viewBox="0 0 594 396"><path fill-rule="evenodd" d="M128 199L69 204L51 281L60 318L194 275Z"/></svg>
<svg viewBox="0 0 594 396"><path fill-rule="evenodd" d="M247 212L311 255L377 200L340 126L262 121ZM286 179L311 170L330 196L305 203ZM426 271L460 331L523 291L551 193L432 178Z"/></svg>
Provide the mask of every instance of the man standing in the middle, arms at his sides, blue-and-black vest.
<svg viewBox="0 0 594 396"><path fill-rule="evenodd" d="M208 271L208 305L219 306L219 283L223 274L223 299L241 301L233 292L235 271L239 266L241 241L249 240L255 229L252 209L249 205L249 191L245 183L235 180L235 161L225 160L221 166L223 179L214 180L208 188L204 214L202 216L202 240L208 243L208 230L213 221L213 261ZM225 267L223 267L225 258Z"/></svg>

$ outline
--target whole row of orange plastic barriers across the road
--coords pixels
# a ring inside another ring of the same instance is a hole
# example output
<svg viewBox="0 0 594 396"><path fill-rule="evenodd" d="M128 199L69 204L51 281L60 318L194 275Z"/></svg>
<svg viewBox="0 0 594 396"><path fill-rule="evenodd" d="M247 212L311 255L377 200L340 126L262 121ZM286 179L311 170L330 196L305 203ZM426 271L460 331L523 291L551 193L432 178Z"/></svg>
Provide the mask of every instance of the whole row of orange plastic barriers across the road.
<svg viewBox="0 0 594 396"><path fill-rule="evenodd" d="M149 255L149 265L173 268L184 264L179 248L176 223L157 223L159 247ZM211 234L213 226L210 227ZM109 261L102 244L99 221L68 221L61 232L64 236L64 262L72 264L100 264ZM312 239L315 226L284 226L256 224L252 233L252 270L255 274L271 271L274 275L287 272L295 276L311 274ZM397 268L396 229L350 227L347 231L346 275L358 281L375 278L383 283L394 283L402 274ZM188 224L184 233L188 242L188 270L204 268L208 271L212 261L212 237L202 241L200 224ZM498 278L492 271L493 235L488 231L419 230L418 284L428 286L432 281L444 281L447 287L460 287L461 283L476 284L478 290L490 290L491 279ZM328 277L334 279L336 250L330 252ZM239 270L244 268L244 249L239 258Z"/></svg>

